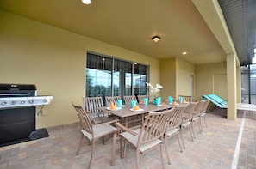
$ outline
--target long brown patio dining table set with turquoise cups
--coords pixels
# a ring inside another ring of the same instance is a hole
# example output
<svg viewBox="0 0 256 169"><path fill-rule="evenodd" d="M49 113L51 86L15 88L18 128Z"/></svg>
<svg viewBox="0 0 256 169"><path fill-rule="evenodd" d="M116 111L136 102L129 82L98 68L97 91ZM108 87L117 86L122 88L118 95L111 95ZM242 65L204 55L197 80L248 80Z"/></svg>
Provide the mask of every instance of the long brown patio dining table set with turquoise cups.
<svg viewBox="0 0 256 169"><path fill-rule="evenodd" d="M148 104L148 105L137 104L137 106L140 107L139 110L133 110L130 105L122 106L122 108L116 107L116 110L111 110L110 107L103 106L103 107L99 107L98 110L100 110L102 112L110 113L110 114L118 117L119 119L123 120L124 125L126 127L128 127L128 118L130 118L130 117L141 115L142 119L141 119L140 124L142 124L145 114L147 114L148 112L165 111L167 109L171 109L174 106L180 106L180 105L185 105L185 104L186 103L180 103L177 105L165 104L165 106L161 106L161 105L157 106L154 104Z"/></svg>

